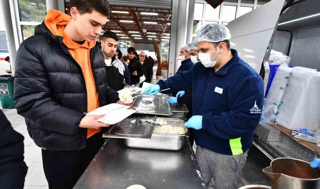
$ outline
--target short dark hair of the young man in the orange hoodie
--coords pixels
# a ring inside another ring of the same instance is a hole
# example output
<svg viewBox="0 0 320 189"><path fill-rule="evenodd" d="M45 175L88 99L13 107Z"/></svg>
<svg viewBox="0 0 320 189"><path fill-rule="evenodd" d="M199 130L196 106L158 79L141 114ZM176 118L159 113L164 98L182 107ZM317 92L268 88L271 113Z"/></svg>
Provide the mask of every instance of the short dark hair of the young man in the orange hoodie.
<svg viewBox="0 0 320 189"><path fill-rule="evenodd" d="M107 0L70 0L70 7L76 7L80 14L91 13L94 9L105 16L111 16L111 6Z"/></svg>

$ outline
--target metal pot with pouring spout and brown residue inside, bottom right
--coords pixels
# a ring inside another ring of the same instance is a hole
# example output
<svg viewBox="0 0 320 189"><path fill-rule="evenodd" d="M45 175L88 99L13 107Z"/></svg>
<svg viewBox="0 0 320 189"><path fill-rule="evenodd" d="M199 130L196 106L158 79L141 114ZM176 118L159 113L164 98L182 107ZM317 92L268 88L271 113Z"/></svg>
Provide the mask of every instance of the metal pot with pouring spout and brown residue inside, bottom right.
<svg viewBox="0 0 320 189"><path fill-rule="evenodd" d="M310 163L293 158L277 158L262 171L271 179L272 189L320 188L320 169Z"/></svg>

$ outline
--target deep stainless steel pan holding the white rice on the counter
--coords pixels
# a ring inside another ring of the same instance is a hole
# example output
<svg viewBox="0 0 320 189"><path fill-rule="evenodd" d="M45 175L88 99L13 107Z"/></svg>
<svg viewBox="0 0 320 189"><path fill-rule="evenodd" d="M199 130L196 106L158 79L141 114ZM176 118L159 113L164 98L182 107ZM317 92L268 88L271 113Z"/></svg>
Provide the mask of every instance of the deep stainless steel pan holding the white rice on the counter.
<svg viewBox="0 0 320 189"><path fill-rule="evenodd" d="M179 118L166 118L157 117L156 121L162 119L168 123L185 123L185 119ZM185 133L181 135L174 134L160 134L152 133L151 138L126 138L124 139L124 145L132 148L147 148L158 150L181 150L186 143L186 137L188 136L188 130L185 128Z"/></svg>

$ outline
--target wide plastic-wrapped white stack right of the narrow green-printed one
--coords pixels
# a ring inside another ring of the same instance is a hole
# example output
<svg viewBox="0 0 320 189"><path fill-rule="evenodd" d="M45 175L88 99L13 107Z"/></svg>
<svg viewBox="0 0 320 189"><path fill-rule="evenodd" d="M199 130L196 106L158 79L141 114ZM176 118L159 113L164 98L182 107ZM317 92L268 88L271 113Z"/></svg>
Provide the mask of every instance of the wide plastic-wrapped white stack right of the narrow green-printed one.
<svg viewBox="0 0 320 189"><path fill-rule="evenodd" d="M314 69L305 67L294 67L292 69L292 75L286 87L281 108L278 110L276 116L276 123L284 126L285 128L312 129L312 124L319 120L319 117L315 118L314 115L318 114L318 107L310 106L308 101L317 101L317 99L309 99L308 93L314 94L314 90L318 90L319 83L314 85L311 82L312 77L317 74Z"/></svg>

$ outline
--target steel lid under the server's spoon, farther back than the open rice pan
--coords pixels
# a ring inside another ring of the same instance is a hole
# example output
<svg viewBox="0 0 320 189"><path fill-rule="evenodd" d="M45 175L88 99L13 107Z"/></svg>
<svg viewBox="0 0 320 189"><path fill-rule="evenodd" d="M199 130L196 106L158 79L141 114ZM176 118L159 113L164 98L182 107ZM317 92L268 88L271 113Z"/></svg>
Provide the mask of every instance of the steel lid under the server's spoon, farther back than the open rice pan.
<svg viewBox="0 0 320 189"><path fill-rule="evenodd" d="M132 97L138 94L133 94ZM156 114L156 115L165 115L171 116L172 110L167 103L167 95L158 93L154 96L143 95L134 99L132 105L134 107L139 107L140 110L136 114Z"/></svg>

